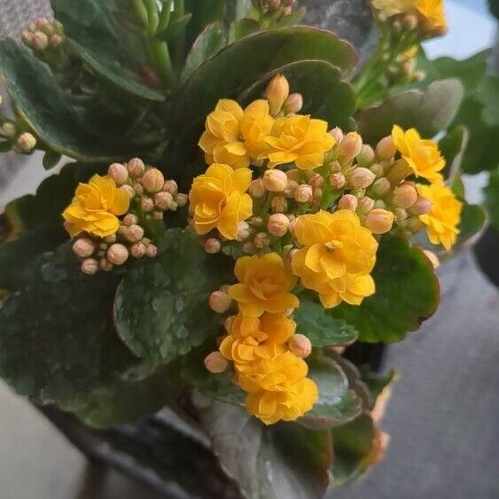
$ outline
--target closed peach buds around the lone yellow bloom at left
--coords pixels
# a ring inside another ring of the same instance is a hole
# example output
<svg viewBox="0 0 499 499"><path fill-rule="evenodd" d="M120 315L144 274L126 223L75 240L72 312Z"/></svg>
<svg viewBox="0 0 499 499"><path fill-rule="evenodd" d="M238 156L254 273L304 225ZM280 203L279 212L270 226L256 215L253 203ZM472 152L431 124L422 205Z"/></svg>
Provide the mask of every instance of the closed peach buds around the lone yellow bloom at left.
<svg viewBox="0 0 499 499"><path fill-rule="evenodd" d="M154 258L158 248L152 243L152 224L160 223L163 214L187 203L178 192L175 181L164 178L158 168L149 168L139 158L128 163L113 163L107 170L116 188L129 197L129 210L119 220L118 230L101 238L83 232L74 241L73 250L81 261L82 272L93 275L97 270L112 270L129 258Z"/></svg>

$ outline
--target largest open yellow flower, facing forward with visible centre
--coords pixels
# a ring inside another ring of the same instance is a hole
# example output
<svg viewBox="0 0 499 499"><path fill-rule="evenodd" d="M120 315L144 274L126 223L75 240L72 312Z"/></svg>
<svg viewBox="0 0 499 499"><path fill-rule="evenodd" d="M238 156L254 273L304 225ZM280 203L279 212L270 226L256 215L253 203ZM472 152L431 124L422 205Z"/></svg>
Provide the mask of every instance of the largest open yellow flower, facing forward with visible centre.
<svg viewBox="0 0 499 499"><path fill-rule="evenodd" d="M378 250L352 210L302 215L295 236L304 247L292 257L292 271L308 289L319 290L346 274L368 273Z"/></svg>

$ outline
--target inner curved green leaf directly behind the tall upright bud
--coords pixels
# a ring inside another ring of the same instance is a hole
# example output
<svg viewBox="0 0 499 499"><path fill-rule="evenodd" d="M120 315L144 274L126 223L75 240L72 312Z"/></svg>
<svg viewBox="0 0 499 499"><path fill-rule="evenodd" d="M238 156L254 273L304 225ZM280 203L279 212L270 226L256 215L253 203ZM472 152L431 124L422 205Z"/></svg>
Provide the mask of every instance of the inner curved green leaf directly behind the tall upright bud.
<svg viewBox="0 0 499 499"><path fill-rule="evenodd" d="M265 74L238 96L249 104L264 95L265 88L275 74L284 74L293 92L303 96L301 113L328 121L330 127L352 129L355 113L355 92L350 83L341 79L338 67L321 60L300 60L277 67Z"/></svg>

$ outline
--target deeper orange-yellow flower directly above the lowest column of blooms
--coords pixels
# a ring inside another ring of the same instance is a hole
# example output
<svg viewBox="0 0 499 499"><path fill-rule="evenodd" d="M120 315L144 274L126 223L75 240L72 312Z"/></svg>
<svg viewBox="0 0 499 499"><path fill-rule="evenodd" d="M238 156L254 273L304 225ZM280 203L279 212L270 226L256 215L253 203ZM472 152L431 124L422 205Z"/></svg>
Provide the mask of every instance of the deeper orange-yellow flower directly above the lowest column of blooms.
<svg viewBox="0 0 499 499"><path fill-rule="evenodd" d="M236 261L234 273L239 283L230 286L230 298L238 301L239 310L245 316L284 312L300 304L291 293L297 279L277 253L243 256Z"/></svg>

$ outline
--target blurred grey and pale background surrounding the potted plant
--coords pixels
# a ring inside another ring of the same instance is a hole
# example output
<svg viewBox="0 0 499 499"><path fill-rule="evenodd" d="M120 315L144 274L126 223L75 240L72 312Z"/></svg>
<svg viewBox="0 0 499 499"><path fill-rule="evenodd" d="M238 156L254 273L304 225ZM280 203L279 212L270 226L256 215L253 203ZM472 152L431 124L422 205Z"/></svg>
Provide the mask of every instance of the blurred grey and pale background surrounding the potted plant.
<svg viewBox="0 0 499 499"><path fill-rule="evenodd" d="M348 9L355 1L336 4ZM335 3L316 4L326 12ZM466 58L495 43L496 23L486 0L447 0L446 5L449 32L426 43L430 58ZM0 0L0 38L18 35L28 19L40 15L50 15L43 0ZM35 191L43 175L36 155L27 160L3 155L3 162L0 208ZM481 200L484 175L466 178L471 202ZM437 315L386 355L386 369L402 371L383 422L392 439L386 458L333 497L499 498L499 292L470 251L442 266L440 277ZM0 404L1 499L162 497L118 472L88 465L1 381Z"/></svg>

